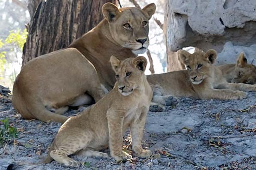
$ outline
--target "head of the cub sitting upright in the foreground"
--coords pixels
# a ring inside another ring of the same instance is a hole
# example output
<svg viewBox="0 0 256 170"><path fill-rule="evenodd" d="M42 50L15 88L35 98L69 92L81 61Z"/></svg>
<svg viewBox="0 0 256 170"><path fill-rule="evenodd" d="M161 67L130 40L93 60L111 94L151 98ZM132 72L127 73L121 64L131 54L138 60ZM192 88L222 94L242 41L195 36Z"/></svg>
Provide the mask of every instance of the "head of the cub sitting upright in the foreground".
<svg viewBox="0 0 256 170"><path fill-rule="evenodd" d="M111 56L110 62L115 71L118 91L122 95L128 96L135 89L141 88L145 79L144 71L147 66L147 59L145 57L139 56L120 61L116 57Z"/></svg>

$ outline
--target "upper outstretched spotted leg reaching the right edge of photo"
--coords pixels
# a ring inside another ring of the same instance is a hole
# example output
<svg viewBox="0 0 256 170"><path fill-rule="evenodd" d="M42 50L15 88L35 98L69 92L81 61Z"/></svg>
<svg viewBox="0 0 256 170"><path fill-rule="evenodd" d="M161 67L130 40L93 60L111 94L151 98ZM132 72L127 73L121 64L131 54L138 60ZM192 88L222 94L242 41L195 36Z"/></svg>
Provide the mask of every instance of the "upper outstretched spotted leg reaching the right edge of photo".
<svg viewBox="0 0 256 170"><path fill-rule="evenodd" d="M248 85L244 83L223 83L218 85L218 88L228 88L235 91L256 91L256 85Z"/></svg>

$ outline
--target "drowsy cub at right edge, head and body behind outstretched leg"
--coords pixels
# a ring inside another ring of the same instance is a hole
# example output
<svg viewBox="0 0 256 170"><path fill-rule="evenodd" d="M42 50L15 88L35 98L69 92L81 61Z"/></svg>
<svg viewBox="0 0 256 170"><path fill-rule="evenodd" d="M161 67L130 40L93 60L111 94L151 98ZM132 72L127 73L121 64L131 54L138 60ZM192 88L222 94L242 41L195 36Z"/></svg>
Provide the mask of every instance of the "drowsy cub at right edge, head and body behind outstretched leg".
<svg viewBox="0 0 256 170"><path fill-rule="evenodd" d="M244 53L238 56L236 64L218 66L227 82L256 84L256 66L247 63Z"/></svg>

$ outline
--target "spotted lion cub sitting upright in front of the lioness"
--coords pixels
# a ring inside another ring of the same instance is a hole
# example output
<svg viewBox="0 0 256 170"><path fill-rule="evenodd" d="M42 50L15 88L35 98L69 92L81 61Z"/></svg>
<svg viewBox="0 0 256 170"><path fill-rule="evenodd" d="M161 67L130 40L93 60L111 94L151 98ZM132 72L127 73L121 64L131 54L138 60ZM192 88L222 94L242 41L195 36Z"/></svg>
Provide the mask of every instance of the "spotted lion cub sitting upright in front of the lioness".
<svg viewBox="0 0 256 170"><path fill-rule="evenodd" d="M132 156L122 151L123 133L130 128L132 150L136 156L147 158L150 150L141 146L143 129L152 99L152 89L144 74L147 59L128 58L119 61L112 56L110 62L116 73L114 88L91 108L69 118L55 136L44 163L53 159L66 166L79 163L68 156L80 150L83 156L103 156L99 152L109 147L116 161Z"/></svg>

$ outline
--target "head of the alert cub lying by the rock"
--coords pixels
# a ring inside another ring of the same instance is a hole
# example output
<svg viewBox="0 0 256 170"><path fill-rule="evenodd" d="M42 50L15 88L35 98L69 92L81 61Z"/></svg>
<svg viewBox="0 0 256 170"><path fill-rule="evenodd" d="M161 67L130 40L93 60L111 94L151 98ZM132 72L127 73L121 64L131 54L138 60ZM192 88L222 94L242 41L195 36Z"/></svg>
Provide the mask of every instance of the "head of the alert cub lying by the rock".
<svg viewBox="0 0 256 170"><path fill-rule="evenodd" d="M191 82L195 85L203 82L203 79L210 76L210 68L215 62L217 52L215 50L196 51L194 54L182 50L179 54L180 61L188 68Z"/></svg>

